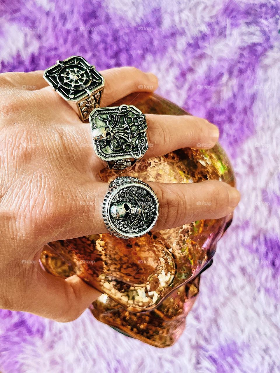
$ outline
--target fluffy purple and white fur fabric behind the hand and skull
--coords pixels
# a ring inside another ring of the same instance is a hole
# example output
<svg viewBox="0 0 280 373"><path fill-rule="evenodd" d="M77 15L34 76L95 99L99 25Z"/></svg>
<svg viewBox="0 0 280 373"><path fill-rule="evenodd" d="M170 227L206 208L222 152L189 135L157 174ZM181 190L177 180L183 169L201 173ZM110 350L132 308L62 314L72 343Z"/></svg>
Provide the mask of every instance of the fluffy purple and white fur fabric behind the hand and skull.
<svg viewBox="0 0 280 373"><path fill-rule="evenodd" d="M134 65L221 131L242 200L187 327L158 349L97 322L0 311L2 373L280 372L280 3L0 0L1 71Z"/></svg>

